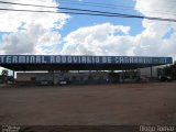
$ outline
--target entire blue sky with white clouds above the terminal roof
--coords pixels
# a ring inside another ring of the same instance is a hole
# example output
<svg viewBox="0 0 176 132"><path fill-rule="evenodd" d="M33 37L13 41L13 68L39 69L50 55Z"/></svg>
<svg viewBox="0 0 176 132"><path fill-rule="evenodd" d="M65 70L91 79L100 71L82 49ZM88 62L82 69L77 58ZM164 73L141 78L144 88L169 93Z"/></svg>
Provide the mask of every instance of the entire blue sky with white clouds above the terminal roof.
<svg viewBox="0 0 176 132"><path fill-rule="evenodd" d="M3 1L176 18L175 0ZM0 3L2 8L66 11ZM176 22L0 10L0 54L172 56L175 59Z"/></svg>

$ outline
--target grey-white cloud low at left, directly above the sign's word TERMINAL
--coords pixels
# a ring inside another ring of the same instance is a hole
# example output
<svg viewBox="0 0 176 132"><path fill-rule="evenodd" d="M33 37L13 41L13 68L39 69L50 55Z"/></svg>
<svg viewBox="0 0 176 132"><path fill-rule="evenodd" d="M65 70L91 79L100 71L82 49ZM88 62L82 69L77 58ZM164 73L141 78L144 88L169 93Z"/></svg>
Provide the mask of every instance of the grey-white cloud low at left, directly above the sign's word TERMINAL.
<svg viewBox="0 0 176 132"><path fill-rule="evenodd" d="M6 54L54 54L61 38L58 32L31 25L30 30L3 35L2 51Z"/></svg>

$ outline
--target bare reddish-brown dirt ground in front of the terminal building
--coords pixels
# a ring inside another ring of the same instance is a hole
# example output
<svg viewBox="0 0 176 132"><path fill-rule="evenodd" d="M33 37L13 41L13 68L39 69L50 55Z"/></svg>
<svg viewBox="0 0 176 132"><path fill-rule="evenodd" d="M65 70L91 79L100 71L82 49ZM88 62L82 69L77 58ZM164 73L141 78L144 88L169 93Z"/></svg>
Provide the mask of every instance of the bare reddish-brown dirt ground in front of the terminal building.
<svg viewBox="0 0 176 132"><path fill-rule="evenodd" d="M0 124L176 124L176 82L0 87Z"/></svg>

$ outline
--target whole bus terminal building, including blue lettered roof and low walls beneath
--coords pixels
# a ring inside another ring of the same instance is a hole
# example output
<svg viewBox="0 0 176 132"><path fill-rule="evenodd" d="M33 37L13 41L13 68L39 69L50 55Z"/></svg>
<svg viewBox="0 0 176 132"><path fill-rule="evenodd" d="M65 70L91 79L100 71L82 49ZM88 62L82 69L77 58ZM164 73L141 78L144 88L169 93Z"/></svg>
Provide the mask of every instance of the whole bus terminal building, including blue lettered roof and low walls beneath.
<svg viewBox="0 0 176 132"><path fill-rule="evenodd" d="M91 84L157 77L155 67L173 64L172 57L0 55L0 66L16 73L20 84Z"/></svg>

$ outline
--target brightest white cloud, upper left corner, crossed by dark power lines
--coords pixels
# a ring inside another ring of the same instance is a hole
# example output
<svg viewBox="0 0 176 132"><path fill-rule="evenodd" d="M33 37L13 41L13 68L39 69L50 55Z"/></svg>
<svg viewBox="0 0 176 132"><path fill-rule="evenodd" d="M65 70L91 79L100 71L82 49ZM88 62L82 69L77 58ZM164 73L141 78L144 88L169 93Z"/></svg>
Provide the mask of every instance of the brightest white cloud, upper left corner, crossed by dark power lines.
<svg viewBox="0 0 176 132"><path fill-rule="evenodd" d="M8 0L14 2L13 0ZM36 4L36 6L51 6L56 7L56 2L43 2L42 0L36 1L25 1L25 4ZM24 3L21 0L15 0L18 3ZM55 8L40 8L40 7L29 7L29 6L13 6L13 4L0 4L0 8L8 9L19 9L19 10L38 10L38 11L57 11ZM66 14L56 14L56 13L36 13L36 12L15 12L15 11L1 11L0 12L0 31L1 32L16 32L18 28L24 23L24 28L30 28L31 23L40 24L44 29L61 29L65 24L65 20L68 18Z"/></svg>

